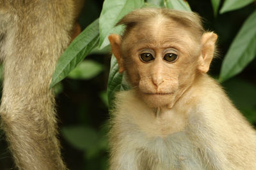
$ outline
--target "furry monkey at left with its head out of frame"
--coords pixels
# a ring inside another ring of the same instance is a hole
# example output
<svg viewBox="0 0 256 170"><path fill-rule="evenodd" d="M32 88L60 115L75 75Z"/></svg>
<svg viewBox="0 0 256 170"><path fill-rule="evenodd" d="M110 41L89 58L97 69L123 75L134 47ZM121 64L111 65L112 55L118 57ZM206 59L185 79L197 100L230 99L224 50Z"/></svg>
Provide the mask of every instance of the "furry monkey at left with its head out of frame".
<svg viewBox="0 0 256 170"><path fill-rule="evenodd" d="M49 85L58 58L79 32L81 4L0 0L1 129L17 169L67 169Z"/></svg>

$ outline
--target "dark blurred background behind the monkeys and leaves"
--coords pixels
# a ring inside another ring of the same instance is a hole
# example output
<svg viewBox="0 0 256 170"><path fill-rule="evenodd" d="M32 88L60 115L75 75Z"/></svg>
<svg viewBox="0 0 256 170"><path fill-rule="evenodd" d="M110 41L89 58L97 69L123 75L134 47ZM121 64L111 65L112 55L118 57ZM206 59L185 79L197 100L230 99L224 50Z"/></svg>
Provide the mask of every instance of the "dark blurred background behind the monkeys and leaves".
<svg viewBox="0 0 256 170"><path fill-rule="evenodd" d="M102 0L86 0L79 18L82 29L99 17L102 3ZM223 57L244 20L255 10L255 4L214 17L210 0L188 0L188 3L193 11L205 19L205 30L218 34L220 57L212 62L209 72L214 78L218 78ZM106 88L110 57L110 53L89 55L85 60L98 62L102 70L86 80L65 78L56 88L61 152L69 169L107 168L108 152L104 134L109 117ZM242 73L223 83L228 96L253 125L256 125L255 74L254 59ZM0 169L13 169L12 157L3 132L1 134Z"/></svg>

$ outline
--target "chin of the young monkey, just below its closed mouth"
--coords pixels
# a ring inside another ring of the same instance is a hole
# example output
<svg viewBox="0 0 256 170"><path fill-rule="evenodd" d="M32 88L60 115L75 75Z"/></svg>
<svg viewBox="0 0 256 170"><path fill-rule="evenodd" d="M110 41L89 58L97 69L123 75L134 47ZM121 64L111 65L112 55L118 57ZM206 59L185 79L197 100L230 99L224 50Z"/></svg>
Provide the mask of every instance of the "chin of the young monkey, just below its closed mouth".
<svg viewBox="0 0 256 170"><path fill-rule="evenodd" d="M173 93L170 94L142 94L143 101L150 108L172 108L175 102L175 96Z"/></svg>

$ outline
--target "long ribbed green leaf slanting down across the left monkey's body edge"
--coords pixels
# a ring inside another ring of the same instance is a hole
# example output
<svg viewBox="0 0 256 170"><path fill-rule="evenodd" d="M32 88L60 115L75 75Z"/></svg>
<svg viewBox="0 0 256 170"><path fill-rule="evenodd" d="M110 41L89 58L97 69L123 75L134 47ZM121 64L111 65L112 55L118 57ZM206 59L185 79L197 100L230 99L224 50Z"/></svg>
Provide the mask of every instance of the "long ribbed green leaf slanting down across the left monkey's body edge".
<svg viewBox="0 0 256 170"><path fill-rule="evenodd" d="M86 55L99 43L99 19L95 20L68 46L67 50L58 60L52 75L50 88L63 80Z"/></svg>

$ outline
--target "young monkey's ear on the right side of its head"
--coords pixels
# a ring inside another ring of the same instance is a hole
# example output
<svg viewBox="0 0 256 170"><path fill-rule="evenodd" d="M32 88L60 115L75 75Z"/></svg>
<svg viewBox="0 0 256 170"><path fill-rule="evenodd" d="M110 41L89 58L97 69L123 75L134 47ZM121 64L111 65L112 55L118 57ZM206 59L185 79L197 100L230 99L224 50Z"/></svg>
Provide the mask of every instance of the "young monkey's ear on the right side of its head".
<svg viewBox="0 0 256 170"><path fill-rule="evenodd" d="M207 73L207 71L209 71L217 38L218 36L213 32L205 32L202 36L201 55L199 57L198 69L203 73Z"/></svg>

